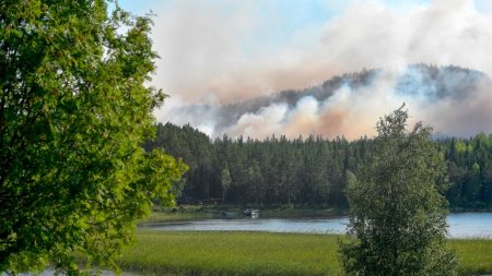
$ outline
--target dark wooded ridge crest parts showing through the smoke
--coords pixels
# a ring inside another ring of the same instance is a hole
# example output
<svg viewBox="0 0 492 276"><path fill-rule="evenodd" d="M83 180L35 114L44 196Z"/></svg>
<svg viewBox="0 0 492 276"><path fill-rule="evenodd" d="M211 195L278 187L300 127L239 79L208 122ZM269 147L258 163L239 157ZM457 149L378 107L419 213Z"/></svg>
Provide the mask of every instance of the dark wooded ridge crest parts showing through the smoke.
<svg viewBox="0 0 492 276"><path fill-rule="evenodd" d="M288 104L294 106L301 98L312 96L318 101L324 101L331 97L333 93L343 85L354 89L368 86L374 79L384 73L383 69L370 69L353 73L344 73L333 76L323 84L303 89L286 89L273 93L269 96L256 97L248 100L221 106L218 109L219 127L227 127L237 121L244 113L256 113L261 108L272 104ZM480 81L488 80L489 76L473 69L466 69L456 65L430 65L424 63L411 64L407 67L405 73L397 83L397 92L410 95L425 95L431 98L462 97L467 91L476 89ZM197 106L194 106L197 108Z"/></svg>

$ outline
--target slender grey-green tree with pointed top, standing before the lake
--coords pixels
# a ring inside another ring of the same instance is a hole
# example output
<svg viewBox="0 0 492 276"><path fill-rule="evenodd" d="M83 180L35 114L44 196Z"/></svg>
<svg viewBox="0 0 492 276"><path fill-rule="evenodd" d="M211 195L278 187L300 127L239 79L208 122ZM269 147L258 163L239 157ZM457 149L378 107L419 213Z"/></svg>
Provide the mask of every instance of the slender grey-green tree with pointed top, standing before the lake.
<svg viewBox="0 0 492 276"><path fill-rule="evenodd" d="M403 106L405 107L405 106ZM446 245L446 164L431 128L406 130L403 107L377 124L374 159L349 179L349 275L456 275Z"/></svg>

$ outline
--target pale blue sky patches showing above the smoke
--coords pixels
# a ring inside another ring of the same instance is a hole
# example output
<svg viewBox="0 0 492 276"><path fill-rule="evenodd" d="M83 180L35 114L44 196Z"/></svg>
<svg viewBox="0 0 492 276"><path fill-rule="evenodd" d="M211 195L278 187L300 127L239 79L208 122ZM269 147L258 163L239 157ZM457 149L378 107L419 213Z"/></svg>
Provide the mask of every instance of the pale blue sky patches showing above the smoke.
<svg viewBox="0 0 492 276"><path fill-rule="evenodd" d="M165 16L167 9L178 2L219 7L225 13L234 12L230 9L237 8L237 2L251 2L255 14L263 19L263 26L257 28L255 35L245 39L242 44L246 55L255 51L268 52L279 47L279 45L291 43L298 33L305 37L318 36L324 25L331 19L342 14L347 8L354 2L376 2L382 3L396 11L406 11L415 5L429 5L431 0L120 0L119 4L136 14L144 14L152 10L156 15ZM478 11L490 10L491 0L473 0ZM206 4L203 4L206 3ZM207 13L207 10L202 11ZM235 11L237 12L237 11ZM276 21L266 19L274 16ZM272 24L272 22L274 22ZM261 24L261 23L260 23ZM157 26L159 27L159 26ZM258 45L261 41L261 45ZM258 49L261 47L261 49Z"/></svg>

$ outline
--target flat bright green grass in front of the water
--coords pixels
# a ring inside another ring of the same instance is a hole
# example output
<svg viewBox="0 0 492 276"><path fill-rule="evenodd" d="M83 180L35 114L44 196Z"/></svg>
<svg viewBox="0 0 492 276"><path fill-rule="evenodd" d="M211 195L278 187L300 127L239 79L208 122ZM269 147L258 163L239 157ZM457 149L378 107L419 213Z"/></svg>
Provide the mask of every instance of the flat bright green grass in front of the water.
<svg viewBox="0 0 492 276"><path fill-rule="evenodd" d="M142 275L341 275L333 235L139 231L124 271ZM452 240L461 275L492 273L492 240Z"/></svg>

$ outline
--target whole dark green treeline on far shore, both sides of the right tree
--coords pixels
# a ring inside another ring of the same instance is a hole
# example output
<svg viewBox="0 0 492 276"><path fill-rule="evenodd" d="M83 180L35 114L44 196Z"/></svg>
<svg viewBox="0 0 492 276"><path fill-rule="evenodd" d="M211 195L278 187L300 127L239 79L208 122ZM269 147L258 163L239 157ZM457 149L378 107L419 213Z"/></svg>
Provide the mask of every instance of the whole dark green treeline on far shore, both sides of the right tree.
<svg viewBox="0 0 492 276"><path fill-rule="evenodd" d="M454 208L492 207L492 134L441 139L436 147L447 159ZM311 135L211 141L190 125L157 124L145 149L165 147L190 169L179 202L249 205L323 205L347 208L347 176L372 158L373 142Z"/></svg>

